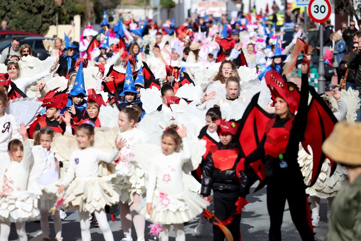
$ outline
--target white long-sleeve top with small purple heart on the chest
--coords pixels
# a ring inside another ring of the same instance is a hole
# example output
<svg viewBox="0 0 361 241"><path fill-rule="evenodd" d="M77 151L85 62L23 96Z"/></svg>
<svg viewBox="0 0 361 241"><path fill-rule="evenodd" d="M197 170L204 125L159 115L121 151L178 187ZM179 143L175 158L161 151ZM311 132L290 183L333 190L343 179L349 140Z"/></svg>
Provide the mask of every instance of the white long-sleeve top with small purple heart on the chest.
<svg viewBox="0 0 361 241"><path fill-rule="evenodd" d="M87 178L99 176L99 162L110 163L117 154L118 150L116 148L110 153L94 147L74 151L70 156L68 172L66 172L62 184L68 186L75 177Z"/></svg>

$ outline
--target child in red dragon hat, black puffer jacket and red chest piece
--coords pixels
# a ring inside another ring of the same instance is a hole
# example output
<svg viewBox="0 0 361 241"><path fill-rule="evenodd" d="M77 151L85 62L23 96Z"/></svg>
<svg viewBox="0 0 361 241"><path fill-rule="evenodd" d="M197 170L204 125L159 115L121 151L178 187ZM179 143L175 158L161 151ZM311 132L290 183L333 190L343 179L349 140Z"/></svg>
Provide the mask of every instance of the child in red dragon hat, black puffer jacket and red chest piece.
<svg viewBox="0 0 361 241"><path fill-rule="evenodd" d="M214 215L217 220L217 222L213 220L214 240L224 240L227 232L224 232L222 226L226 226L234 240L238 241L241 214L236 203L239 203L240 197L245 200L245 195L248 194L240 191L244 190L240 188L242 179L240 181L236 174L239 149L234 137L238 124L235 121L225 120L216 120L216 123L222 146L219 150L210 152L205 158L201 194L208 197L210 190L213 189ZM209 218L207 214L204 216Z"/></svg>

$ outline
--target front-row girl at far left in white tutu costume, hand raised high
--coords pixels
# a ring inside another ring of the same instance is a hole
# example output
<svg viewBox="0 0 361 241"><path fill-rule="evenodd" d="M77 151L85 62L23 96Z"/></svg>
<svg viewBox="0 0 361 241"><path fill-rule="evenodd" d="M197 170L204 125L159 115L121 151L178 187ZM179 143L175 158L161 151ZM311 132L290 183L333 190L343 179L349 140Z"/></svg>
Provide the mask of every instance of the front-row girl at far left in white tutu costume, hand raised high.
<svg viewBox="0 0 361 241"><path fill-rule="evenodd" d="M0 241L8 241L11 223L15 223L20 241L27 241L25 222L39 216L38 198L40 189L31 181L30 170L34 164L31 146L22 124L19 133L24 144L18 139L9 142L9 165L3 165L0 173Z"/></svg>

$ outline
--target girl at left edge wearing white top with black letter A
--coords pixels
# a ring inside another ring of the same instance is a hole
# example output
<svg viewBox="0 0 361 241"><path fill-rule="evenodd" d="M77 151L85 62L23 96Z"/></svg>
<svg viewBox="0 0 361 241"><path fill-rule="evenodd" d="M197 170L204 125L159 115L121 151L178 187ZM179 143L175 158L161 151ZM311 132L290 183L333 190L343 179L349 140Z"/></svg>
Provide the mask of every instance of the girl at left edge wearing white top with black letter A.
<svg viewBox="0 0 361 241"><path fill-rule="evenodd" d="M19 124L16 123L15 117L5 113L8 104L8 96L4 86L0 86L0 163L10 163L8 154L8 144L13 139L21 139L18 132Z"/></svg>

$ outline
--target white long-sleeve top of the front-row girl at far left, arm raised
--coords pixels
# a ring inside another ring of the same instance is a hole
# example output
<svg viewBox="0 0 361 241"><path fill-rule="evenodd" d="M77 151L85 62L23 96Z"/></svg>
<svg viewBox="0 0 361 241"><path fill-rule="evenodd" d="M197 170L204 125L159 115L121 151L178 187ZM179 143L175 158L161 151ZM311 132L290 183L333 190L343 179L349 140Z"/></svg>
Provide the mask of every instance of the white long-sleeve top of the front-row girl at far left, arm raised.
<svg viewBox="0 0 361 241"><path fill-rule="evenodd" d="M10 162L9 166L4 168L3 176L0 177L2 195L11 195L27 190L30 167L34 163L34 158L29 141L25 141L23 147L24 154L21 162Z"/></svg>

